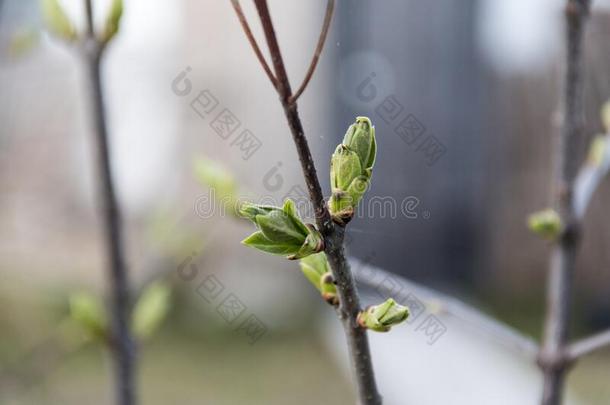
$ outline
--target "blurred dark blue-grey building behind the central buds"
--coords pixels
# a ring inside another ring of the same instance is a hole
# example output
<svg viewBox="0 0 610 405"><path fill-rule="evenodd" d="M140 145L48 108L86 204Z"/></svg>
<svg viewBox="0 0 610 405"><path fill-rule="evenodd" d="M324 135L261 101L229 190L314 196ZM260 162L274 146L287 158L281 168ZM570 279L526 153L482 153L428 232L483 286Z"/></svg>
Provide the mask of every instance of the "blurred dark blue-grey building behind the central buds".
<svg viewBox="0 0 610 405"><path fill-rule="evenodd" d="M350 251L419 281L470 283L486 251L489 106L476 7L475 1L339 4L336 141L354 116L368 115L379 145L367 195L375 215L354 221ZM396 201L395 215L386 197Z"/></svg>

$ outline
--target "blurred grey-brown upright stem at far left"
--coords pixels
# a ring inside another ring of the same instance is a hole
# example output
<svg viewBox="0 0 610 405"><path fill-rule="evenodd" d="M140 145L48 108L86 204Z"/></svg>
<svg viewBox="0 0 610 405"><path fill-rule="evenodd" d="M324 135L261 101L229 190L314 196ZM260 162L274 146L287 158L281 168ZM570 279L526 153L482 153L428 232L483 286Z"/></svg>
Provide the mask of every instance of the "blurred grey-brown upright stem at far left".
<svg viewBox="0 0 610 405"><path fill-rule="evenodd" d="M86 1L88 12L91 0ZM101 78L101 58L105 49L93 35L93 18L88 17L89 35L82 48L86 65L90 113L93 119L93 135L97 152L97 171L100 177L98 193L101 201L106 257L111 292L112 338L111 349L115 358L117 403L135 404L135 345L129 331L129 280L125 265L121 210L117 203L110 146L106 126L106 108Z"/></svg>

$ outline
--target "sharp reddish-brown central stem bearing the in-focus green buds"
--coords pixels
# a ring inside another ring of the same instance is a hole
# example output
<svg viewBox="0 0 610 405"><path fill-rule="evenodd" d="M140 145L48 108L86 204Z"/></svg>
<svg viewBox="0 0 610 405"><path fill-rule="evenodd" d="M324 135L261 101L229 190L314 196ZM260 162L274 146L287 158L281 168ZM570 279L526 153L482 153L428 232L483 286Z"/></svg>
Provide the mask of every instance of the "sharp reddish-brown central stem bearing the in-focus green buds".
<svg viewBox="0 0 610 405"><path fill-rule="evenodd" d="M271 54L275 76L277 77L276 90L284 108L288 126L290 127L301 162L305 182L307 183L307 188L309 190L309 196L316 211L316 224L324 237L324 251L328 258L333 276L337 282L337 291L340 298L338 312L345 330L352 366L355 369L360 403L361 405L380 405L382 400L381 395L379 395L377 390L373 372L367 332L360 328L356 322L358 312L361 310L360 298L358 297L349 263L345 259L345 252L343 249L345 229L334 225L324 203L324 195L318 181L307 138L304 134L303 125L297 110L297 104L293 99L290 82L284 66L284 60L277 41L271 15L269 14L267 1L255 0L255 5ZM324 37L325 36L326 35L324 34Z"/></svg>

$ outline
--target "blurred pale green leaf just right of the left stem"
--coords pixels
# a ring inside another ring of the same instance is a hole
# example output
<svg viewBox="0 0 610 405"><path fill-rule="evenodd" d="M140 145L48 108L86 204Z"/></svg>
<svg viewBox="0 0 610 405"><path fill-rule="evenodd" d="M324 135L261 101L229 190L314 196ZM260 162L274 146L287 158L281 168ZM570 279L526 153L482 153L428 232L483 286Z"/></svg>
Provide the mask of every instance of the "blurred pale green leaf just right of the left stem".
<svg viewBox="0 0 610 405"><path fill-rule="evenodd" d="M159 328L170 308L171 289L163 282L151 283L140 295L132 316L132 330L139 339L146 339Z"/></svg>

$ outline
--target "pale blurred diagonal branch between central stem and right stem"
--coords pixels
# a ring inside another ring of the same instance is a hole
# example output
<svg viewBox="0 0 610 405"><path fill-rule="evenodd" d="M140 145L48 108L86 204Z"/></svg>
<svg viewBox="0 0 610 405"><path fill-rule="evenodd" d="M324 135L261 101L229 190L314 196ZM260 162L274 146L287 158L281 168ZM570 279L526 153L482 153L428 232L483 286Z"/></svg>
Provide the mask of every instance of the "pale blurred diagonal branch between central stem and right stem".
<svg viewBox="0 0 610 405"><path fill-rule="evenodd" d="M359 260L350 259L350 262L352 262L354 268L358 269L355 272L355 277L359 283L378 291L381 283L391 280L393 284L400 286L401 291L408 291L413 294L425 305L429 312L453 317L459 320L461 324L470 326L477 332L481 332L494 341L509 347L515 353L525 355L531 360L536 359L538 345L534 339L523 335L518 330L495 320L459 299ZM396 299L398 300L398 298Z"/></svg>

